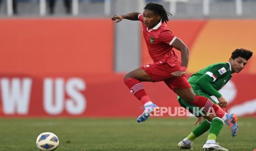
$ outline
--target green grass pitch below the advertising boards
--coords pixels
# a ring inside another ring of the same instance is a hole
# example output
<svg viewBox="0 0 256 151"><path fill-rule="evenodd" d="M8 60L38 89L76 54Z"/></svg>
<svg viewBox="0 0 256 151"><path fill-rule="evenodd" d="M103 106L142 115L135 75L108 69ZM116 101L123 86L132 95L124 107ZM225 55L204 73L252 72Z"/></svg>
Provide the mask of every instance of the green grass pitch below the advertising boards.
<svg viewBox="0 0 256 151"><path fill-rule="evenodd" d="M36 137L50 131L59 137L56 150L181 150L177 143L194 129L195 118L50 118L0 119L0 150L39 150ZM239 118L232 137L225 125L217 142L229 150L256 148L256 119ZM202 150L207 133L194 141Z"/></svg>

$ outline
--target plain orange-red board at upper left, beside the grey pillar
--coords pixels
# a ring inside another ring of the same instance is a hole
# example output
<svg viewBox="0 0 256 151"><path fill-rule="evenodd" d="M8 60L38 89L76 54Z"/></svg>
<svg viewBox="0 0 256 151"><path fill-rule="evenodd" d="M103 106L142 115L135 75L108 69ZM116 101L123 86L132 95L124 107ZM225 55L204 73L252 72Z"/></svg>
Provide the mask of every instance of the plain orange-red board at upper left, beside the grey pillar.
<svg viewBox="0 0 256 151"><path fill-rule="evenodd" d="M112 73L113 31L110 19L2 19L0 73Z"/></svg>

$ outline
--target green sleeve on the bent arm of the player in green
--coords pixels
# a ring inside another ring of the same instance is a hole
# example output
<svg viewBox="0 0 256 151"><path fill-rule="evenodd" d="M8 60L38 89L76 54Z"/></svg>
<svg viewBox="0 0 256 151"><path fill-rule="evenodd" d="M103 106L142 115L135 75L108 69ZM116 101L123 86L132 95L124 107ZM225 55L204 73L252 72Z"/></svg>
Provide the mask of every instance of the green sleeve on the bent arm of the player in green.
<svg viewBox="0 0 256 151"><path fill-rule="evenodd" d="M208 74L204 74L197 80L197 84L209 95L213 95L217 98L220 98L222 95L216 89L214 89L211 82L213 81L212 77L209 77Z"/></svg>

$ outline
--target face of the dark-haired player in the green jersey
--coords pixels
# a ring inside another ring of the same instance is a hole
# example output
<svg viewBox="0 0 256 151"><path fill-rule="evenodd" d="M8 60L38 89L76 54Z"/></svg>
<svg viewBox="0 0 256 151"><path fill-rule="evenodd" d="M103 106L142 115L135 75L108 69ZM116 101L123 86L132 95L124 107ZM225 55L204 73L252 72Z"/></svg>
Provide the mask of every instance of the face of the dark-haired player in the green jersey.
<svg viewBox="0 0 256 151"><path fill-rule="evenodd" d="M239 73L246 66L247 60L243 57L237 57L236 59L230 58L230 64L232 72Z"/></svg>

